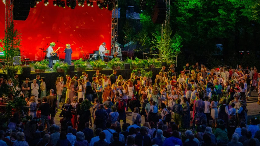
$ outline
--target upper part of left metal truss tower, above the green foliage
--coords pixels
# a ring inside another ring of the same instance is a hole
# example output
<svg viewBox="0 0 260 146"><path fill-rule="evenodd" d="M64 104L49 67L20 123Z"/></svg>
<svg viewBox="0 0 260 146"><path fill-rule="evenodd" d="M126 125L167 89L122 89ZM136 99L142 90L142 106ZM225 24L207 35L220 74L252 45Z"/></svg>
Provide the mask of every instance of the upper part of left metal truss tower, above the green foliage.
<svg viewBox="0 0 260 146"><path fill-rule="evenodd" d="M5 29L13 22L13 0L5 0Z"/></svg>

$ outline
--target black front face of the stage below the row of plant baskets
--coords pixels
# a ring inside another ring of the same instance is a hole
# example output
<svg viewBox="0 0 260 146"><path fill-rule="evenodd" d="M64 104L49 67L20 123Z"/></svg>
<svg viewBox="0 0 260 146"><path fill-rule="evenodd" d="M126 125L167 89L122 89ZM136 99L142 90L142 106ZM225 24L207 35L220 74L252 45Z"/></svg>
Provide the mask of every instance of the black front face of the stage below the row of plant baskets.
<svg viewBox="0 0 260 146"><path fill-rule="evenodd" d="M132 70L133 69L117 69L117 76L122 75L123 79L125 79L125 80L130 79ZM152 80L154 80L155 76L160 72L161 68L144 68L144 70L146 70L147 72L152 71L153 72ZM95 70L86 70L85 72L88 74L88 78L92 82L93 74L95 74L96 71ZM113 73L113 70L104 69L104 70L100 70L99 73L105 74L105 75L110 75ZM31 73L22 73L21 74L18 71L18 74L19 74L18 78L20 81L20 85L23 83L23 80L25 80L26 78L33 80L33 79L36 79L36 75L45 77L46 91L49 91L50 89L54 89L54 91L56 92L55 82L56 82L57 77L64 77L64 82L66 83L66 74L60 73L60 72L46 71L45 73L35 73L35 72L31 71ZM79 77L82 76L82 72L77 72L77 71L71 71L71 72L68 72L67 74L70 75L71 78L74 77L75 74L77 74ZM1 76L3 76L4 78L7 78L7 74L0 73L0 77ZM32 82L28 83L29 87L31 87L31 83Z"/></svg>

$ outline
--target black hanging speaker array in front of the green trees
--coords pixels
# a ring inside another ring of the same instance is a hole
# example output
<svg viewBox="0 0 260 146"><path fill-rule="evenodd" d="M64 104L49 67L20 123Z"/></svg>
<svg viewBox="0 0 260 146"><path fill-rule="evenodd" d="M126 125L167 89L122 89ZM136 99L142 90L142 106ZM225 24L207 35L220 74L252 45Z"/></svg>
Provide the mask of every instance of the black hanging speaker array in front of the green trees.
<svg viewBox="0 0 260 146"><path fill-rule="evenodd" d="M152 20L153 23L162 24L165 21L166 18L166 3L165 2L156 2L156 4L153 6L153 14L152 14Z"/></svg>

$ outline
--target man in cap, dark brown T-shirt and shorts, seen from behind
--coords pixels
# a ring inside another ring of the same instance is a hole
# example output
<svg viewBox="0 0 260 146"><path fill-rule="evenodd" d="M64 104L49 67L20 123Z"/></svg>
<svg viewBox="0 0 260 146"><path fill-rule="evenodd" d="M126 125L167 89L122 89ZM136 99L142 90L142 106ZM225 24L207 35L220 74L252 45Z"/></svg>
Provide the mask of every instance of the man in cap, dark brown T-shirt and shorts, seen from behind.
<svg viewBox="0 0 260 146"><path fill-rule="evenodd" d="M58 105L57 105L57 97L53 95L54 90L50 90L50 95L47 96L47 103L50 105L50 116L51 116L51 123L55 124L54 117L56 115L56 111L58 111Z"/></svg>

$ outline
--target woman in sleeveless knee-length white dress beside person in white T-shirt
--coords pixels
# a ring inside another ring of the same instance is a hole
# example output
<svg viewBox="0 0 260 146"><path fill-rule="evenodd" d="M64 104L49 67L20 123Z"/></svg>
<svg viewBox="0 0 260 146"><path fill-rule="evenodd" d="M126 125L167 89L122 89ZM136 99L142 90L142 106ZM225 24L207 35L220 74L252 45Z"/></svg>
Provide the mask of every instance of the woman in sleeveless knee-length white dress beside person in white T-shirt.
<svg viewBox="0 0 260 146"><path fill-rule="evenodd" d="M218 124L218 97L217 95L212 95L211 99L211 117L213 118L213 128L216 128Z"/></svg>

